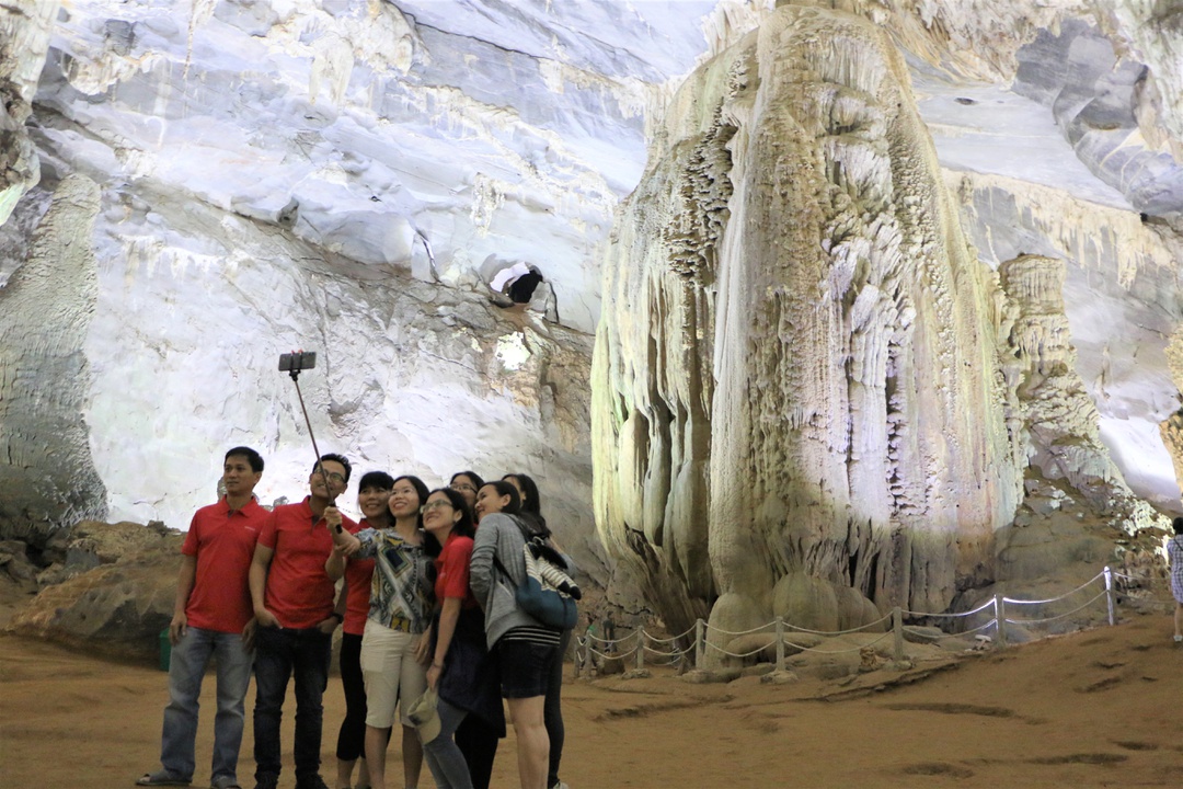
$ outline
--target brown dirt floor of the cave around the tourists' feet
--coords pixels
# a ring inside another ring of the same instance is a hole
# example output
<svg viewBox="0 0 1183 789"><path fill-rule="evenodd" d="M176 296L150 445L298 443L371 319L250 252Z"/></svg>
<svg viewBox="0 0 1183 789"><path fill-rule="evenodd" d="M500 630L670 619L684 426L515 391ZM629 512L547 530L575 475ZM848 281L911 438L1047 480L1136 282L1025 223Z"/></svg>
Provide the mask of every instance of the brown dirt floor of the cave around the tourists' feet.
<svg viewBox="0 0 1183 789"><path fill-rule="evenodd" d="M1170 628L1162 614L1133 614L1118 627L918 665L904 677L691 684L659 668L642 679L570 680L562 775L573 789L1178 787L1183 649ZM0 787L132 785L157 767L164 680L154 667L0 636ZM196 787L209 776L212 678L206 685ZM252 705L253 686L248 718ZM291 698L285 710L290 748ZM330 784L343 712L332 678ZM251 748L248 723L239 768L247 789ZM502 748L493 785L516 787L512 733ZM286 759L283 788L295 781Z"/></svg>

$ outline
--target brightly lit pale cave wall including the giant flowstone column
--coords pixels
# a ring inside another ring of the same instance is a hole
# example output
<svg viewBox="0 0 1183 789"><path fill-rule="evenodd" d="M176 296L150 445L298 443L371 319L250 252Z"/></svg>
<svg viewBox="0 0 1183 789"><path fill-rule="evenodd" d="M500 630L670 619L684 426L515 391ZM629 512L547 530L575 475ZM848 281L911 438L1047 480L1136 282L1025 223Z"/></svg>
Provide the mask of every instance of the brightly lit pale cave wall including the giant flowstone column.
<svg viewBox="0 0 1183 789"><path fill-rule="evenodd" d="M1062 263L1075 353L1041 419L1090 478L1178 509L1178 13L776 5L0 9L0 355L82 370L0 371L0 528L183 528L235 444L267 457L264 502L302 496L274 368L305 348L322 450L432 485L532 473L581 564L671 623L720 594L728 625L939 608L1010 571L1028 454L1058 463L1003 374L995 271L1024 256ZM96 202L38 261L78 176ZM486 283L518 263L547 282L506 311ZM66 264L52 310L18 286ZM1058 422L1086 401L1095 423ZM66 470L69 496L12 504Z"/></svg>

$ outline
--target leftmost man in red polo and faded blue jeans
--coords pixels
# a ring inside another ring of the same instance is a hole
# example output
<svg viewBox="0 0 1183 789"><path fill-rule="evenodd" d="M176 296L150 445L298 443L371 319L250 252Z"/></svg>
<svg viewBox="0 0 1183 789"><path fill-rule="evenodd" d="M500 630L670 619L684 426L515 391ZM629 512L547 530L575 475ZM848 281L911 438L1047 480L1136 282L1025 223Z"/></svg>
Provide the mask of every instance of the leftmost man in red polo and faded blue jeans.
<svg viewBox="0 0 1183 789"><path fill-rule="evenodd" d="M222 463L226 496L193 516L181 547L176 606L168 627L173 645L168 667L168 706L156 772L136 781L142 787L188 785L195 768L198 698L211 655L218 655L218 714L214 717L213 772L209 785L238 785L238 749L243 742L243 699L251 684L251 653L243 629L252 616L247 573L254 544L269 513L254 502L263 458L234 447Z"/></svg>

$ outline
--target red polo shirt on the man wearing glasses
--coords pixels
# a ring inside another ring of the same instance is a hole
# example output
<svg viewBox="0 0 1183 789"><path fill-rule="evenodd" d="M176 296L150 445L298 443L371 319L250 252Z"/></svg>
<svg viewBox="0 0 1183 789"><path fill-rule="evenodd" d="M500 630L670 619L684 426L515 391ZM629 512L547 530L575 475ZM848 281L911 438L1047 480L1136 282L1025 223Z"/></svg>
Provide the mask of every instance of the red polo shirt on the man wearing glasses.
<svg viewBox="0 0 1183 789"><path fill-rule="evenodd" d="M357 524L342 516L342 524ZM263 604L279 625L295 629L316 627L332 614L336 589L324 571L332 550L332 535L324 518L312 515L309 499L277 506L259 533L259 544L274 551L267 571Z"/></svg>

